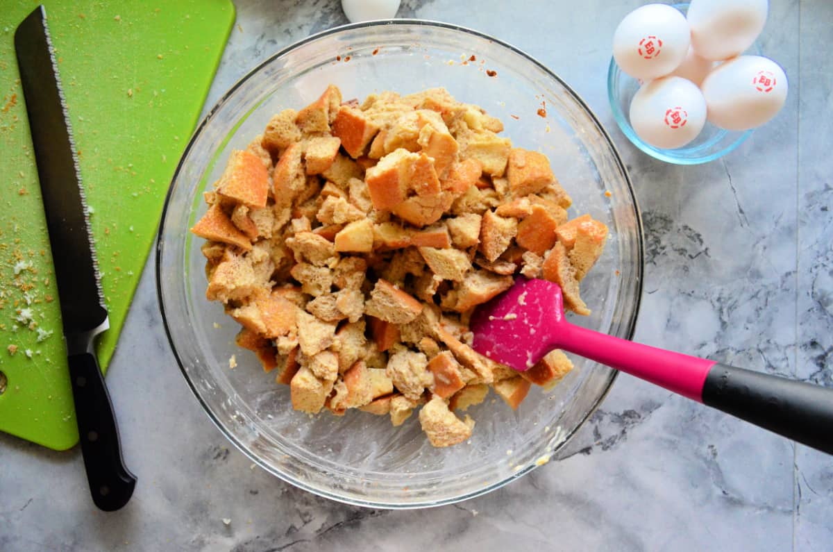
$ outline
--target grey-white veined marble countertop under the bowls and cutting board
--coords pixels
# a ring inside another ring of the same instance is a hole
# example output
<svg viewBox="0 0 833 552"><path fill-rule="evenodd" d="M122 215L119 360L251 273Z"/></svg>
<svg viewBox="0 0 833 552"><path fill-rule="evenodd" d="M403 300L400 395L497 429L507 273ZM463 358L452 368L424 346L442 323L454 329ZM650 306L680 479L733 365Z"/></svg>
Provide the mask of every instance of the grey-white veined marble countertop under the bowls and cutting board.
<svg viewBox="0 0 833 552"><path fill-rule="evenodd" d="M761 41L791 79L786 108L735 153L687 168L637 152L607 105L610 37L641 3L531 0L519 10L491 0L406 0L398 15L458 23L526 50L601 118L645 223L636 340L833 386L833 62L825 55L833 3L771 3ZM239 0L207 105L278 49L342 23L333 0ZM295 489L256 468L203 413L168 348L153 268L151 259L107 374L124 453L139 478L132 501L117 513L97 511L78 449L56 453L0 434L0 550L833 543L830 457L626 375L571 442L575 454L486 496L387 511Z"/></svg>

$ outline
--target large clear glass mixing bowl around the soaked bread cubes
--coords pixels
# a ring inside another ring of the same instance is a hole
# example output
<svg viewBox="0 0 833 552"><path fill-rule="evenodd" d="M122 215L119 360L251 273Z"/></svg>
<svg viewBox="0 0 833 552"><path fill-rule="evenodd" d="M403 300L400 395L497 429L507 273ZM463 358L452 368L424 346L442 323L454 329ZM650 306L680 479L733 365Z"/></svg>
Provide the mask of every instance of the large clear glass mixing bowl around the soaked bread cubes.
<svg viewBox="0 0 833 552"><path fill-rule="evenodd" d="M532 389L516 412L491 394L467 412L477 422L469 442L435 449L416 414L394 428L387 417L356 410L341 418L293 411L288 387L235 346L237 324L205 299L202 239L188 232L205 212L202 192L232 149L245 148L273 113L301 108L329 83L345 99L445 87L501 118L517 147L546 153L574 199L572 216L591 213L611 231L582 283L593 314L574 320L631 338L642 282L639 211L611 139L581 98L541 63L481 33L416 20L361 23L302 40L242 78L202 121L179 163L159 230L157 289L173 352L197 399L264 469L351 504L447 504L557 459L610 388L613 370L575 359L560 385L549 393Z"/></svg>

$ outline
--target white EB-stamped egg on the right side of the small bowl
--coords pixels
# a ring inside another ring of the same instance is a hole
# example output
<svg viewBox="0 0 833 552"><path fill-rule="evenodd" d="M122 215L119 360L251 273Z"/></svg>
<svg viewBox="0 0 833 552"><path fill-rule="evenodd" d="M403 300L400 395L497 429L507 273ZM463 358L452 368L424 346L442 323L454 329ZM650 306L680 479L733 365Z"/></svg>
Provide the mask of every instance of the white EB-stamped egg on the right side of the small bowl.
<svg viewBox="0 0 833 552"><path fill-rule="evenodd" d="M741 56L721 63L703 81L709 122L726 130L760 127L786 102L784 70L761 56Z"/></svg>

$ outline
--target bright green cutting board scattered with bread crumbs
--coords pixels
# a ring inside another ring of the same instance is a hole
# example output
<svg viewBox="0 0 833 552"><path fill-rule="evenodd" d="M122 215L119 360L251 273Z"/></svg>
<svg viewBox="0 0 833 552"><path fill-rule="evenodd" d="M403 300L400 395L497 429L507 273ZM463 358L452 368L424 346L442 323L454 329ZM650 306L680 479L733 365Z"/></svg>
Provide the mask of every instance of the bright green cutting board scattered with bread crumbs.
<svg viewBox="0 0 833 552"><path fill-rule="evenodd" d="M44 0L90 207L110 329L102 369L162 203L234 23L229 0ZM9 5L11 4L11 5ZM0 431L77 443L61 313L13 36L37 2L0 10ZM130 369L142 369L131 359Z"/></svg>

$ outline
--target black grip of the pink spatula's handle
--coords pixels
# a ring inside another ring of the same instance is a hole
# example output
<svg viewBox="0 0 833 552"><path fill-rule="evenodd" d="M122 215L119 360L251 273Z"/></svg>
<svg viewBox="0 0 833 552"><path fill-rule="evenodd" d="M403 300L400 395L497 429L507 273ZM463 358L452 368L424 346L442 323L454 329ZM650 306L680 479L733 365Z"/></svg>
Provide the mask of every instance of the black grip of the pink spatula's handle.
<svg viewBox="0 0 833 552"><path fill-rule="evenodd" d="M833 389L715 364L703 404L833 454Z"/></svg>

